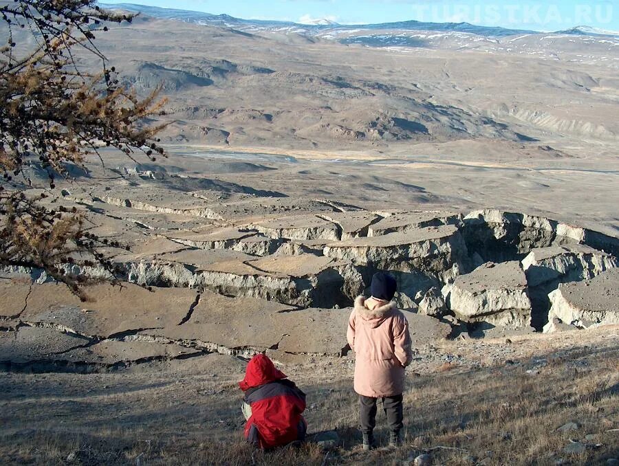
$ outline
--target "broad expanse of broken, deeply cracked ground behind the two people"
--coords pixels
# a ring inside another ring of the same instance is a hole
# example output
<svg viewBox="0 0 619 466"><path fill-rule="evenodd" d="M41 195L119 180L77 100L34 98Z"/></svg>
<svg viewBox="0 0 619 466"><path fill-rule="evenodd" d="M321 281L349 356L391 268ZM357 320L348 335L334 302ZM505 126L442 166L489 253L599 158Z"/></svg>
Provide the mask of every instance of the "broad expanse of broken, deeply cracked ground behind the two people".
<svg viewBox="0 0 619 466"><path fill-rule="evenodd" d="M350 306L379 270L398 280L395 300L417 341L618 322L619 238L499 210L364 210L241 188L46 198L82 212L116 265L111 276L74 258L65 271L123 286L90 287L81 302L40 270L7 267L3 367L341 355Z"/></svg>

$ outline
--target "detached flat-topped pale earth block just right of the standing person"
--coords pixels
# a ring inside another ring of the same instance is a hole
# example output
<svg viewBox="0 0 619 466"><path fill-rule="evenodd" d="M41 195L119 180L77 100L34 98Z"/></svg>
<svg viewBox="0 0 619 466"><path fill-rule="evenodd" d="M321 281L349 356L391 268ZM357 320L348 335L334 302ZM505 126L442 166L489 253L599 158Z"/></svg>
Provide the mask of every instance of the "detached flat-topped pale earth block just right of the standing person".
<svg viewBox="0 0 619 466"><path fill-rule="evenodd" d="M448 308L467 322L527 327L531 302L520 263L488 263L442 289Z"/></svg>

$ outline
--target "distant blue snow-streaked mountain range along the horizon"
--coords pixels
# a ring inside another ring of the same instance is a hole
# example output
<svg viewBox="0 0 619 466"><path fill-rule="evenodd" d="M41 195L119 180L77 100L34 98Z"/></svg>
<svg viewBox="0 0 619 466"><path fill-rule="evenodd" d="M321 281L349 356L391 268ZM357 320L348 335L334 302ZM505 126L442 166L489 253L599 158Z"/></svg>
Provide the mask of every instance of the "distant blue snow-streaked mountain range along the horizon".
<svg viewBox="0 0 619 466"><path fill-rule="evenodd" d="M421 21L399 21L395 23L378 23L366 25L341 25L329 20L312 21L311 24L299 24L288 21L263 21L257 19L240 19L228 14L210 14L203 12L174 10L171 8L158 8L146 5L136 5L134 3L116 3L113 5L101 4L105 8L122 9L130 12L141 12L146 16L159 19L172 19L184 21L186 23L197 23L220 27L230 27L232 29L245 32L294 32L309 36L325 36L327 33L346 34L347 32L369 31L428 31L428 32L460 32L475 34L487 38L501 38L513 36L515 34L543 34L531 30L514 30L504 27L478 26L470 23L424 23ZM619 32L599 30L594 27L578 26L565 31L558 31L552 34L578 35L578 36L615 36L619 37ZM334 37L330 37L334 38ZM349 38L342 38L342 41L349 42ZM397 43L395 44L397 45Z"/></svg>

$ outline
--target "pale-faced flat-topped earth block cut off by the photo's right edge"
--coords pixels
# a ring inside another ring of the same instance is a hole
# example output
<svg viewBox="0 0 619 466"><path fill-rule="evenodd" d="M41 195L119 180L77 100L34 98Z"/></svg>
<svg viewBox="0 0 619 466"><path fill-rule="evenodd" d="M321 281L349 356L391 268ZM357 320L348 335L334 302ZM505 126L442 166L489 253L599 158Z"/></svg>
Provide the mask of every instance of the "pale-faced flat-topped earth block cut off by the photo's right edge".
<svg viewBox="0 0 619 466"><path fill-rule="evenodd" d="M619 324L619 269L584 282L565 283L549 295L550 319L581 329Z"/></svg>

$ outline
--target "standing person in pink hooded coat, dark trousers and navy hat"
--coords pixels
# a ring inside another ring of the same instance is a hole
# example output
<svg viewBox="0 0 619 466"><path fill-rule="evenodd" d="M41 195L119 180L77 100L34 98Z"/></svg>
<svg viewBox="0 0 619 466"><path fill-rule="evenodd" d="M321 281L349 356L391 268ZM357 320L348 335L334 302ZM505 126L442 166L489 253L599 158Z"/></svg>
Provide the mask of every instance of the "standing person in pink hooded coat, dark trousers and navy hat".
<svg viewBox="0 0 619 466"><path fill-rule="evenodd" d="M356 355L354 388L360 399L363 450L374 445L376 402L382 401L391 434L389 445L400 443L404 368L413 353L409 323L395 302L397 284L390 274L378 272L371 282L371 298L359 296L348 322L347 340Z"/></svg>

